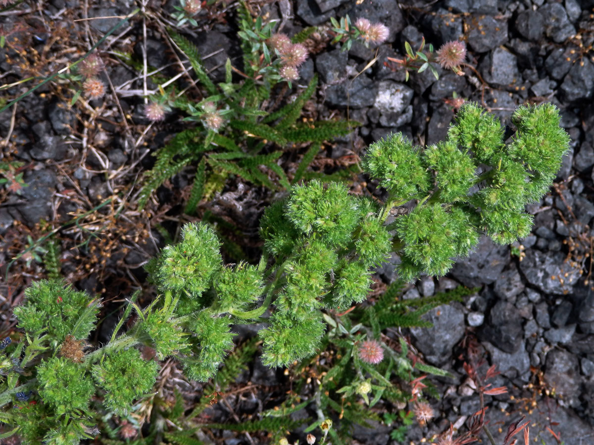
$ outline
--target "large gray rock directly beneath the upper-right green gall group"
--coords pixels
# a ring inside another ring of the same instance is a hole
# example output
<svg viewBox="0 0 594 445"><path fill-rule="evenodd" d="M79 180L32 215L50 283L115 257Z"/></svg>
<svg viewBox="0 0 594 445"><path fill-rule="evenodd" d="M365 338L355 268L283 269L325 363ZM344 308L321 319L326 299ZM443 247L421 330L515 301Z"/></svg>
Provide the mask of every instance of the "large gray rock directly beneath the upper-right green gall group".
<svg viewBox="0 0 594 445"><path fill-rule="evenodd" d="M500 276L508 258L508 247L494 244L489 237L482 236L475 252L458 260L451 269L451 275L467 287L491 284Z"/></svg>

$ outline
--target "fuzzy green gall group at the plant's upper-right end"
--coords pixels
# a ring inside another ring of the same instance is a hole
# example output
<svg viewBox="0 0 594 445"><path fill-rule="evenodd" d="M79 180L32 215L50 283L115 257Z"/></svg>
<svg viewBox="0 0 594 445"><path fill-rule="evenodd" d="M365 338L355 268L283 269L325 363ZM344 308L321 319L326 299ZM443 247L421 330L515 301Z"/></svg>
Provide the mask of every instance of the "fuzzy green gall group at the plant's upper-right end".
<svg viewBox="0 0 594 445"><path fill-rule="evenodd" d="M569 147L551 104L520 106L508 144L499 120L475 104L463 106L456 119L445 141L424 151L392 135L372 144L363 162L391 198L420 201L394 223L405 279L444 275L481 233L500 244L527 236L532 215L525 206L548 191Z"/></svg>

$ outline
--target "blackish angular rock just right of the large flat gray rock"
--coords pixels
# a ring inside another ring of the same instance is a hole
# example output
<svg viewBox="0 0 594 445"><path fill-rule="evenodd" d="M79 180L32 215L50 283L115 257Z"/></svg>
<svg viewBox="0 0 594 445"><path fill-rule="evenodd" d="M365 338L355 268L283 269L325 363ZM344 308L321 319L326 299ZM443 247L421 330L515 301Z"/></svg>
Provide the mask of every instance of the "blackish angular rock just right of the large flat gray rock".
<svg viewBox="0 0 594 445"><path fill-rule="evenodd" d="M497 301L489 314L489 324L479 332L479 338L513 354L523 344L522 317L516 306L508 301Z"/></svg>

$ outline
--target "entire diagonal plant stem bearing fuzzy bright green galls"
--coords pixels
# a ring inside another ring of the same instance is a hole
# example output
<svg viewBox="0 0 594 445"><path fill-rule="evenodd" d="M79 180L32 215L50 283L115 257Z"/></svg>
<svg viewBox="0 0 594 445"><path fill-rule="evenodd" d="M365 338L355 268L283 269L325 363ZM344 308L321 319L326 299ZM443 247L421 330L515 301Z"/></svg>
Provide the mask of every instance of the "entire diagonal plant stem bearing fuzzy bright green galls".
<svg viewBox="0 0 594 445"><path fill-rule="evenodd" d="M390 252L399 253L399 272L412 279L445 274L481 233L502 244L526 236L532 217L525 205L548 190L568 136L549 104L520 107L513 122L518 131L504 144L498 120L467 104L447 139L426 150L401 134L372 144L362 164L388 191L383 207L338 183L293 187L264 212L257 266L223 266L213 229L185 225L182 241L147 266L162 303L137 307L136 325L101 354L83 363L53 354L36 367L43 403L18 413L21 436L26 443L83 437L96 392L113 412L129 408L157 374L156 363L143 360L134 345L152 346L159 359L176 355L188 377L204 381L232 348L231 325L264 321L264 363L289 365L315 352L326 328L321 310L342 311L364 300L372 269ZM414 199L412 211L385 224L394 205ZM19 326L30 338L44 335L52 351L68 334L84 339L94 328L97 304L59 281L34 284L26 295L26 305L15 309Z"/></svg>

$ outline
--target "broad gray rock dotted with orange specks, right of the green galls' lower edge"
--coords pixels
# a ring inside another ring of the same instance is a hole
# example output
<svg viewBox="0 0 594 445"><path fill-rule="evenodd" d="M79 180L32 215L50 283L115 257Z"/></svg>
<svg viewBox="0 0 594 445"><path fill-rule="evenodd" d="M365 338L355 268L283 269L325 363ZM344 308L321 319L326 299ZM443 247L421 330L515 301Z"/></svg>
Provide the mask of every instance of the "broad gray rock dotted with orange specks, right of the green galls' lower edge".
<svg viewBox="0 0 594 445"><path fill-rule="evenodd" d="M565 255L561 252L532 250L520 262L520 270L530 284L546 294L568 293L580 277L579 266L565 263Z"/></svg>

